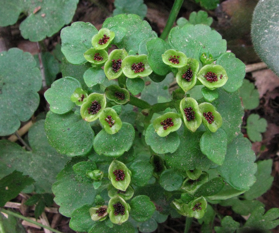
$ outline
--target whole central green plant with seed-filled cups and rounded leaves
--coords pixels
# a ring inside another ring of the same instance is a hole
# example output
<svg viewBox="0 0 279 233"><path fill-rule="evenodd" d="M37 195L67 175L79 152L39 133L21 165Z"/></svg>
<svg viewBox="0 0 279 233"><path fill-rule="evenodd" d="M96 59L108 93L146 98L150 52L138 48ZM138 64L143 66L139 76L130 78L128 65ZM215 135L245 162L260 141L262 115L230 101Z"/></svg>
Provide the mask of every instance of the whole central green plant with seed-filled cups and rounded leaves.
<svg viewBox="0 0 279 233"><path fill-rule="evenodd" d="M166 42L137 15L121 14L99 32L75 22L61 39L66 59L79 65L73 69L88 69L85 82L68 72L79 81L67 84L63 98L56 82L47 91L51 109L69 106L48 113L46 134L58 151L78 156L53 185L74 230L132 233L138 222L156 222L158 212L202 218L212 209L208 200L253 185L255 156L240 132L237 92L245 66L216 31L187 24ZM173 77L179 86L171 95Z"/></svg>

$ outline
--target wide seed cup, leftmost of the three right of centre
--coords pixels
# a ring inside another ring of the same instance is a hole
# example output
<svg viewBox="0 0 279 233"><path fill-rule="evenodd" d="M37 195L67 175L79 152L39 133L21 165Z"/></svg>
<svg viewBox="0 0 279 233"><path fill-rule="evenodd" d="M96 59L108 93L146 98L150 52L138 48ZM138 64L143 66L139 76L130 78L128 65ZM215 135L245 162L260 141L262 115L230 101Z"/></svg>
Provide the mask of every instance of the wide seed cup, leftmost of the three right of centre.
<svg viewBox="0 0 279 233"><path fill-rule="evenodd" d="M160 137L166 137L169 133L178 130L181 124L181 118L174 112L165 113L153 121L153 127Z"/></svg>

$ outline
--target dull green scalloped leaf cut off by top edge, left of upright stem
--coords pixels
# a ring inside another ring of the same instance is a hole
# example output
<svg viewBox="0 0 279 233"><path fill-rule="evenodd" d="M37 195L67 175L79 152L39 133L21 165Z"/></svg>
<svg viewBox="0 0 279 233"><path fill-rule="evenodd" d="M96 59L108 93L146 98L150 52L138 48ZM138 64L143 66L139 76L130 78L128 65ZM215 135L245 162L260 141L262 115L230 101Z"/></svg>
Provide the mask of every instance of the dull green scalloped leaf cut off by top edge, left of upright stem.
<svg viewBox="0 0 279 233"><path fill-rule="evenodd" d="M143 0L115 0L114 6L113 16L128 13L136 14L143 19L147 14L147 5L143 3Z"/></svg>

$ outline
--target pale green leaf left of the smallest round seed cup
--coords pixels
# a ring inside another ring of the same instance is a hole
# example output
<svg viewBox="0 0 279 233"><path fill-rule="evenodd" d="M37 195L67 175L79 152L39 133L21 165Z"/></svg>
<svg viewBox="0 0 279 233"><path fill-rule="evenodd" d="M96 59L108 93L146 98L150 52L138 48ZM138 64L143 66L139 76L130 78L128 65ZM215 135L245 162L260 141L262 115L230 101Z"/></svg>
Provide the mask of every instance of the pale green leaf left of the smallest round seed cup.
<svg viewBox="0 0 279 233"><path fill-rule="evenodd" d="M56 80L44 94L50 105L49 109L58 114L69 112L75 106L71 101L71 95L79 87L79 81L72 77Z"/></svg>

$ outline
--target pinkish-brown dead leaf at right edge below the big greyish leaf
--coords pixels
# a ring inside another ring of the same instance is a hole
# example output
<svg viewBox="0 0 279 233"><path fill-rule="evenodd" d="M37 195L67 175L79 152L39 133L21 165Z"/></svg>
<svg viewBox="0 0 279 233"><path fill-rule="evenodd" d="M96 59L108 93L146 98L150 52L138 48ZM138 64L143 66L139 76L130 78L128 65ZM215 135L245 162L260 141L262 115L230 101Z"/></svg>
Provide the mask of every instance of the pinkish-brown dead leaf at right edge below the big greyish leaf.
<svg viewBox="0 0 279 233"><path fill-rule="evenodd" d="M260 93L260 98L262 98L267 91L273 91L279 86L279 78L270 69L255 71L252 72L252 75L256 79L255 85Z"/></svg>

